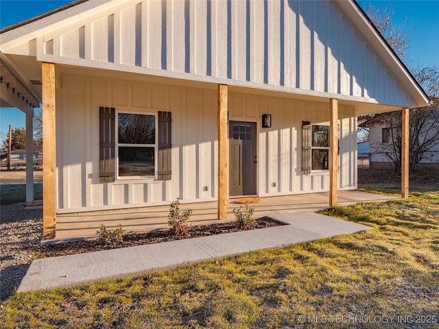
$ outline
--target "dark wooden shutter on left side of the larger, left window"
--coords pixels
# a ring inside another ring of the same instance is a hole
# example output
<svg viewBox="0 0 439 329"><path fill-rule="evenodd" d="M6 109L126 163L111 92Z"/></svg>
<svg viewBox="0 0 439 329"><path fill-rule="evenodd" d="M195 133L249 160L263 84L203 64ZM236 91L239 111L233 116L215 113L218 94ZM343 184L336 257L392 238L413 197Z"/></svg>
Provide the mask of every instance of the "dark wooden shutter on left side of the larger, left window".
<svg viewBox="0 0 439 329"><path fill-rule="evenodd" d="M115 108L99 108L99 182L115 181Z"/></svg>

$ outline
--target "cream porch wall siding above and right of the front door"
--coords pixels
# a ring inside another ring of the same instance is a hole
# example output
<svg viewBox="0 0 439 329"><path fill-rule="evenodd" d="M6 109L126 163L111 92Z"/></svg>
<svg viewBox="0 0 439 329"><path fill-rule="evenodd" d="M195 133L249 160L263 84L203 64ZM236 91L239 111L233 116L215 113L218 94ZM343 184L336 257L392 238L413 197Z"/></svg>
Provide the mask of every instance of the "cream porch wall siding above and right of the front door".
<svg viewBox="0 0 439 329"><path fill-rule="evenodd" d="M258 195L329 191L329 171L302 175L302 121L329 124L329 103L232 93L229 119L257 122ZM262 114L272 114L272 127L262 128ZM340 190L357 186L357 120L351 106L339 106Z"/></svg>

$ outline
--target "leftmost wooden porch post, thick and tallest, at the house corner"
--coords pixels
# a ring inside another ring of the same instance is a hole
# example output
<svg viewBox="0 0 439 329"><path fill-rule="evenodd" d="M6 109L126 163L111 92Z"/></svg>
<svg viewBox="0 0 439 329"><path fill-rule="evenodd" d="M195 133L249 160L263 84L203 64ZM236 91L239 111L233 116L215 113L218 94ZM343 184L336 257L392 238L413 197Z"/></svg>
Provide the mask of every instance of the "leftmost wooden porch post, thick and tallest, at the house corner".
<svg viewBox="0 0 439 329"><path fill-rule="evenodd" d="M55 64L41 65L43 82L43 239L55 237Z"/></svg>

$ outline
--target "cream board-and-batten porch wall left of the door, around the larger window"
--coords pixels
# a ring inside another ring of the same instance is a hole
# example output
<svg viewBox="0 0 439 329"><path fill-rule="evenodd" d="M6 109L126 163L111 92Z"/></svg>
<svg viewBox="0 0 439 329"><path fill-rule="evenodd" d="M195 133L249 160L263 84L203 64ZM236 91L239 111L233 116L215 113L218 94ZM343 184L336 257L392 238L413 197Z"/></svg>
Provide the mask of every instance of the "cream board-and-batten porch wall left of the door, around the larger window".
<svg viewBox="0 0 439 329"><path fill-rule="evenodd" d="M215 199L215 91L64 75L59 94L58 213L169 204L177 197L185 202ZM171 180L99 182L99 106L172 113Z"/></svg>

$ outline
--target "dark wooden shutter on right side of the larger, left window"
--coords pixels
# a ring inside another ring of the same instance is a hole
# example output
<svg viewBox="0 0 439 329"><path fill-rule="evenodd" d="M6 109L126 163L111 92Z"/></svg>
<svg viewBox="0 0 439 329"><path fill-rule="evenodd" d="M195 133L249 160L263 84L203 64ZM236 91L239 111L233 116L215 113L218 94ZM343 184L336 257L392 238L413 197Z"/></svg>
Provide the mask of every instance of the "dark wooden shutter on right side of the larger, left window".
<svg viewBox="0 0 439 329"><path fill-rule="evenodd" d="M158 111L158 180L171 180L171 112Z"/></svg>

